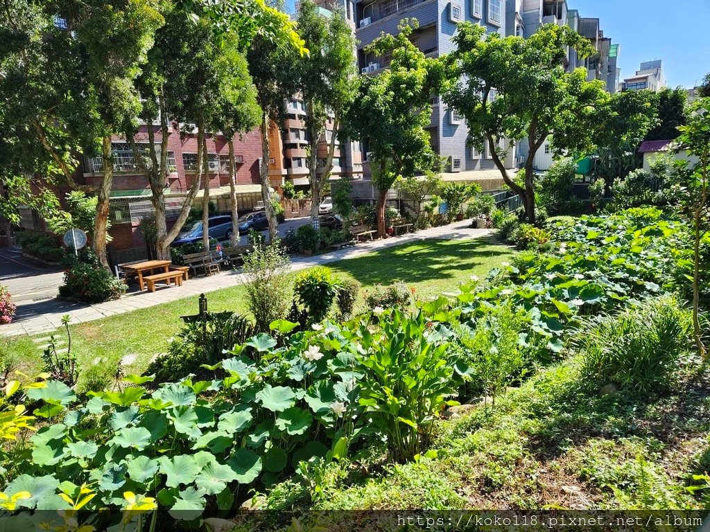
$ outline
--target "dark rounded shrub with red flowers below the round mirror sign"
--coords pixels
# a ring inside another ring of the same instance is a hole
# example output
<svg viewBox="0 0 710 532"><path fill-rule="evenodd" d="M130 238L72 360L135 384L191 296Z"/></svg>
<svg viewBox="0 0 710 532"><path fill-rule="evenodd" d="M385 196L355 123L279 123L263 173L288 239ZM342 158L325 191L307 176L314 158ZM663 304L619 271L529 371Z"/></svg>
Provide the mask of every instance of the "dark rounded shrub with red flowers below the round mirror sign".
<svg viewBox="0 0 710 532"><path fill-rule="evenodd" d="M84 303L101 303L119 299L126 293L126 284L116 279L106 268L77 262L64 272L64 284L59 293L64 297L75 297Z"/></svg>

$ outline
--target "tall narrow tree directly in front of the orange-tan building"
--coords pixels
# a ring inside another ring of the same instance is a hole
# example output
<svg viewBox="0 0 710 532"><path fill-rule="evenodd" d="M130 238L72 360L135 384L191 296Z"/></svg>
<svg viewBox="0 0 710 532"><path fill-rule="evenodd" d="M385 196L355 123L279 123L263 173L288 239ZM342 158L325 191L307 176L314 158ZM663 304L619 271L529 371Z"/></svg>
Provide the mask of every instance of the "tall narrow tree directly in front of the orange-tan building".
<svg viewBox="0 0 710 532"><path fill-rule="evenodd" d="M353 54L356 46L342 10L324 18L311 0L300 4L297 28L310 52L300 56L293 72L297 75L295 86L307 109L305 127L310 146L307 167L312 197L311 218L317 221L323 186L333 169L338 131L357 90ZM318 144L325 135L326 122L331 115L332 136L325 137L327 154L319 157Z"/></svg>

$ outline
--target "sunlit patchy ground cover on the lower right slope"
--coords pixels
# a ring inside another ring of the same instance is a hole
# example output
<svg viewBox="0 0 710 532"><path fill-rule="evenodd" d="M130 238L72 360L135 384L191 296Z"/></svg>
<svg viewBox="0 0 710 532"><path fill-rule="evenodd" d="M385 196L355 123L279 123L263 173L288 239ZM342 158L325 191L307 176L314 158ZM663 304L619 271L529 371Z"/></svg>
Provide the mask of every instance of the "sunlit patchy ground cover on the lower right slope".
<svg viewBox="0 0 710 532"><path fill-rule="evenodd" d="M330 466L315 501L290 509L702 509L685 487L707 471L710 372L664 396L600 396L579 359L541 370L496 408L439 421L436 458L387 465L368 445ZM280 489L274 489L278 495ZM285 509L269 494L266 508ZM317 515L317 514L315 514ZM315 523L317 524L317 523Z"/></svg>

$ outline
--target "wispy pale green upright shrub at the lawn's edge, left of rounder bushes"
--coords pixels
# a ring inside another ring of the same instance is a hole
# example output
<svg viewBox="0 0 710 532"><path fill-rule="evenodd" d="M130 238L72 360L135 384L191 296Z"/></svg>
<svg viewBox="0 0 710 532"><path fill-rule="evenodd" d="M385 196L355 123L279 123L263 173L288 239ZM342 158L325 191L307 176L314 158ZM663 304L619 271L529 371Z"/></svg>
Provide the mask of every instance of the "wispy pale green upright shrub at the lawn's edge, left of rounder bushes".
<svg viewBox="0 0 710 532"><path fill-rule="evenodd" d="M266 332L272 321L287 316L291 290L287 273L290 260L278 241L256 247L244 255L244 275L249 310L256 320L258 331Z"/></svg>

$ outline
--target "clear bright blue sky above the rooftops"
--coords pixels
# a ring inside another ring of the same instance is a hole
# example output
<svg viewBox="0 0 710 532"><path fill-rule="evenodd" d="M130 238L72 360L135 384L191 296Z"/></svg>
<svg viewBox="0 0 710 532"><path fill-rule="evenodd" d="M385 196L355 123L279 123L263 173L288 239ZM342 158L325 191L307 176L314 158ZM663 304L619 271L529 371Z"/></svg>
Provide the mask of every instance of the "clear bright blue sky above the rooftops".
<svg viewBox="0 0 710 532"><path fill-rule="evenodd" d="M470 0L469 0L470 1ZM293 0L287 0L293 11ZM670 87L694 87L710 72L710 0L567 0L580 16L599 18L621 45L621 78L643 61L663 60Z"/></svg>

